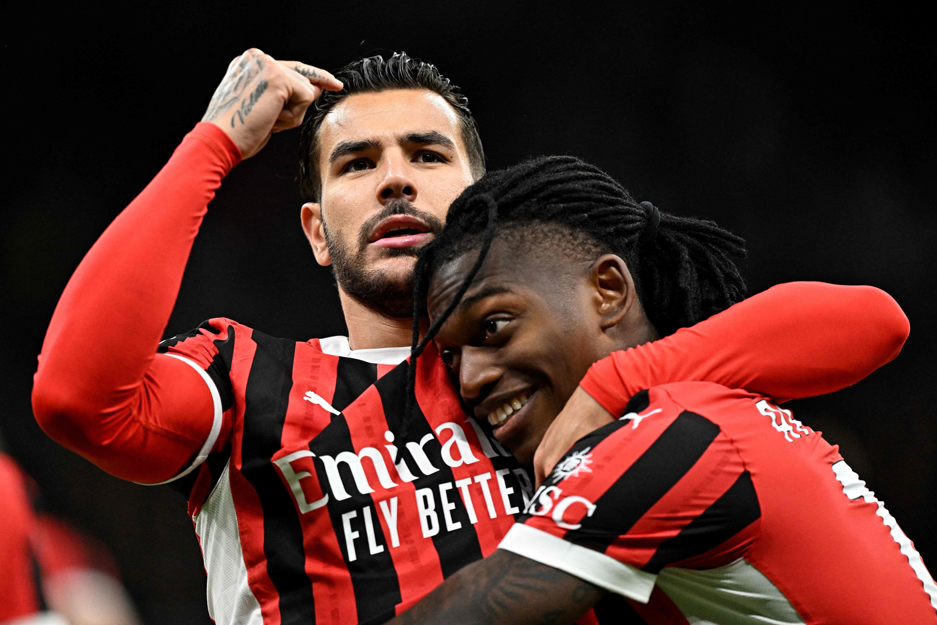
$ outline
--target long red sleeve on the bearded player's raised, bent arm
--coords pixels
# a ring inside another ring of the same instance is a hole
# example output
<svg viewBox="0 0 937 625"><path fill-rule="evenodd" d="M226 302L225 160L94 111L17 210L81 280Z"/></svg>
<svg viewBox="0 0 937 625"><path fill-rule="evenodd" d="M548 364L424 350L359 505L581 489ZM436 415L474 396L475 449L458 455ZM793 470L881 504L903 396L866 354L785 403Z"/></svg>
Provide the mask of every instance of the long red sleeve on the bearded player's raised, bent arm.
<svg viewBox="0 0 937 625"><path fill-rule="evenodd" d="M240 159L220 128L195 126L84 257L52 315L34 379L37 421L117 477L170 479L217 431L203 374L156 347L208 203Z"/></svg>

